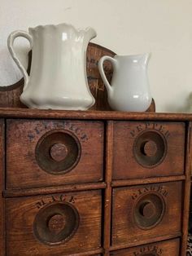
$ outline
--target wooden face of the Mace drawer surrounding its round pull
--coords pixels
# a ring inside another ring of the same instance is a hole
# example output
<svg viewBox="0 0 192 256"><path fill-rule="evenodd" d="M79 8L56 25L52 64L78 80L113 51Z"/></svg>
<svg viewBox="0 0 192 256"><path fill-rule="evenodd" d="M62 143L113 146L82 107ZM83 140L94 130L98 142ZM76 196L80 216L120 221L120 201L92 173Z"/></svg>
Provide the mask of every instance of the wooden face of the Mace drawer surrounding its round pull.
<svg viewBox="0 0 192 256"><path fill-rule="evenodd" d="M34 219L40 210L52 205L52 202L60 201L67 201L76 208L79 214L79 226L69 241L61 242L59 245L46 245L38 241L34 234ZM99 249L101 246L101 206L101 191L7 199L7 256L60 256L82 254L89 250Z"/></svg>

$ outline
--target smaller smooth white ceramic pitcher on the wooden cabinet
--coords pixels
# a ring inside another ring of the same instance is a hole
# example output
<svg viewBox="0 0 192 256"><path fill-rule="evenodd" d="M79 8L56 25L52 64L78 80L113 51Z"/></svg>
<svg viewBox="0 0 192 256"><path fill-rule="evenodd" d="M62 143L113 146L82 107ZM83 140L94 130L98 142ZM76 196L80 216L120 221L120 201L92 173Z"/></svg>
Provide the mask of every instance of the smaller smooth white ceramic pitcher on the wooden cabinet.
<svg viewBox="0 0 192 256"><path fill-rule="evenodd" d="M151 92L146 73L150 54L103 56L98 69L107 88L108 102L112 109L144 112L151 105ZM103 62L111 61L113 76L111 85L103 71Z"/></svg>

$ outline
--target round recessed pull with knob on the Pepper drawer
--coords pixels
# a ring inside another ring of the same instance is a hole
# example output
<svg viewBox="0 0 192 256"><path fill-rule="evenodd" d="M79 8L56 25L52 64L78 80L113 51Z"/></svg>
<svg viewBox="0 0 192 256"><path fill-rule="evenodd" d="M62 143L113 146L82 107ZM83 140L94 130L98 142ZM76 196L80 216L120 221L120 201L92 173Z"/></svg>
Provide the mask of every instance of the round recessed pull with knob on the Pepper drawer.
<svg viewBox="0 0 192 256"><path fill-rule="evenodd" d="M133 156L138 164L152 168L158 166L167 154L167 141L158 131L147 130L137 136Z"/></svg>

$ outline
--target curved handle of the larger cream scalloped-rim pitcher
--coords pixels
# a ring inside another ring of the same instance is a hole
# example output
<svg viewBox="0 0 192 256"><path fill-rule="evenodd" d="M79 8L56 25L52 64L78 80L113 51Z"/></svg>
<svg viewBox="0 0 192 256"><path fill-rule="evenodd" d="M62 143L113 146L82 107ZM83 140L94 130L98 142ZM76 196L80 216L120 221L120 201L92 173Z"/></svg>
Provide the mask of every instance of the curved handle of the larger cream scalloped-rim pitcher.
<svg viewBox="0 0 192 256"><path fill-rule="evenodd" d="M17 56L15 54L14 47L13 47L15 38L19 38L19 37L28 39L31 48L33 46L33 38L26 31L16 30L16 31L13 31L7 39L7 46L8 46L8 49L9 49L10 53L11 53L11 57L15 61L15 64L17 64L18 68L20 68L20 71L24 76L24 90L25 90L26 86L28 85L28 80L29 80L28 73L27 73L27 70L24 68L23 64L21 64L20 60L17 58Z"/></svg>

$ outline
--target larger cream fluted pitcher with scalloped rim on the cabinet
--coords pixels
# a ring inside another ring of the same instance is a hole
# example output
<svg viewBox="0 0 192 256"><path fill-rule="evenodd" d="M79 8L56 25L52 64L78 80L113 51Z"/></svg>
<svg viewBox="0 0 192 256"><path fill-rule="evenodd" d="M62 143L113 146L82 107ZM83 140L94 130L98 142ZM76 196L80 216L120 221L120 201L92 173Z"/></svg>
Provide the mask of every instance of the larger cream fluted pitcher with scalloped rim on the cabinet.
<svg viewBox="0 0 192 256"><path fill-rule="evenodd" d="M7 40L11 56L24 75L20 100L29 108L85 110L94 105L86 77L86 49L94 29L71 24L17 30ZM27 38L32 48L30 76L13 48L15 38Z"/></svg>

